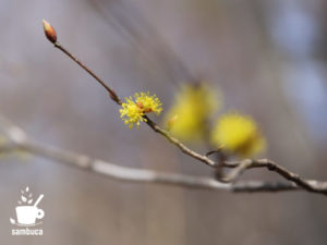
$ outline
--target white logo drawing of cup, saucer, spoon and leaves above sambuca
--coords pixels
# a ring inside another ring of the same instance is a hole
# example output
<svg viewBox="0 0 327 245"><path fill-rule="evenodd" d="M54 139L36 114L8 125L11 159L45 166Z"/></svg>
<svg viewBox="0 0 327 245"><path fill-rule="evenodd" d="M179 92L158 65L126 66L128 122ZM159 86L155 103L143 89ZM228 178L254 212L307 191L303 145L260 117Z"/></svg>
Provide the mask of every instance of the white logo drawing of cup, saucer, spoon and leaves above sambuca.
<svg viewBox="0 0 327 245"><path fill-rule="evenodd" d="M44 195L39 195L33 204L34 199L28 186L21 192L21 200L19 200L19 206L15 208L17 221L10 218L10 222L19 226L34 226L40 224L41 222L39 220L45 217L45 211L38 208L37 205L41 201Z"/></svg>

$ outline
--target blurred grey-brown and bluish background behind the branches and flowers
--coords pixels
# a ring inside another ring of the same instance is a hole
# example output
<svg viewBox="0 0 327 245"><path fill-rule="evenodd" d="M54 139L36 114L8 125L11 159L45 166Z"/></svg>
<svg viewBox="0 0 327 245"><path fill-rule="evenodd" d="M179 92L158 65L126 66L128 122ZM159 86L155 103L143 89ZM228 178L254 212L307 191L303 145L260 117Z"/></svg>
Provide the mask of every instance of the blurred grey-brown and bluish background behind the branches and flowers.
<svg viewBox="0 0 327 245"><path fill-rule="evenodd" d="M225 108L251 114L264 157L327 180L327 3L323 0L0 1L0 113L35 139L121 166L211 175L147 126L129 130L106 91L46 40L60 42L121 97L205 79ZM160 119L156 119L160 121ZM191 145L205 152L203 146ZM280 180L265 170L243 179ZM20 189L45 194L44 235L12 236ZM0 159L2 244L326 244L327 199L119 183L38 157Z"/></svg>

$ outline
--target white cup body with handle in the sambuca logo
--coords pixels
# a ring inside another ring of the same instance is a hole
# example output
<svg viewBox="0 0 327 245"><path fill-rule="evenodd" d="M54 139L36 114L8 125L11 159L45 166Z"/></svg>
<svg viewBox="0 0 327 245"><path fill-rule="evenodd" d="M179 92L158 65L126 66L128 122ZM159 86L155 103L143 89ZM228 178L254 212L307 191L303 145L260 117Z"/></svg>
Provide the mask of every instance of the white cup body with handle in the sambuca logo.
<svg viewBox="0 0 327 245"><path fill-rule="evenodd" d="M17 222L21 224L35 224L36 219L41 219L45 211L35 206L16 207Z"/></svg>

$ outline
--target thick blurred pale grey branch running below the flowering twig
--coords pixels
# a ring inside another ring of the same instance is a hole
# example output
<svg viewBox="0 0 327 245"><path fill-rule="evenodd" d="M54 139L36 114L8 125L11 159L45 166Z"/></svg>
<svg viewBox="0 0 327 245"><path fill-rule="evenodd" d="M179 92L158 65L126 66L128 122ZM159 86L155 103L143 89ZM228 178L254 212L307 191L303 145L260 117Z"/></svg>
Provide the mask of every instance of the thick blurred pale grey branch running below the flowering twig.
<svg viewBox="0 0 327 245"><path fill-rule="evenodd" d="M2 147L0 148L3 149ZM92 173L101 174L122 182L152 183L182 186L192 189L215 189L227 192L282 192L299 189L291 183L265 183L265 182L239 182L237 184L221 183L214 177L192 176L186 174L164 173L152 170L141 170L121 167L108 161L90 158L85 155L74 154L68 150L58 149L44 144L27 140L20 144L11 144L5 150L25 150L55 162L64 163Z"/></svg>

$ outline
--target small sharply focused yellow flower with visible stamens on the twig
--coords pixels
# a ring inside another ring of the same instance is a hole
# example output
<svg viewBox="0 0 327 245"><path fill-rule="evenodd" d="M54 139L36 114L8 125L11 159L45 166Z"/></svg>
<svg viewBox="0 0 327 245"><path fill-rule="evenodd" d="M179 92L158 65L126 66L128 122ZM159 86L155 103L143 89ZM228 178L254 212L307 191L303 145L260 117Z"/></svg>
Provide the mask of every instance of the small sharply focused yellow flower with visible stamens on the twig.
<svg viewBox="0 0 327 245"><path fill-rule="evenodd" d="M157 115L162 111L162 103L156 95L150 96L147 93L135 93L134 100L132 97L125 98L126 102L123 102L122 109L120 109L120 118L125 124L129 124L130 128L136 124L140 127L141 122L146 122L144 118L145 113L155 112Z"/></svg>

